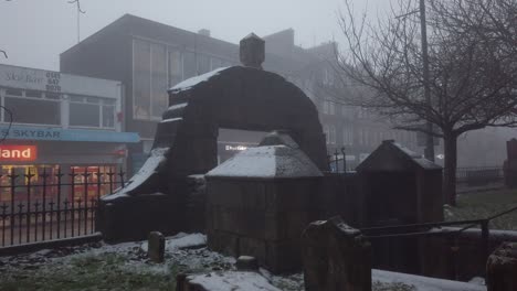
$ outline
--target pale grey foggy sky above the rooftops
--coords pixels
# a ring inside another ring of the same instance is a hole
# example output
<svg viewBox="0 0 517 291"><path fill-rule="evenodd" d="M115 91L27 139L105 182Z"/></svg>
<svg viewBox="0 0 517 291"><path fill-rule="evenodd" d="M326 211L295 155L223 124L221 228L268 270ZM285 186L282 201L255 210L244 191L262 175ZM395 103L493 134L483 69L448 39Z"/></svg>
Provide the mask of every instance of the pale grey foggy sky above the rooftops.
<svg viewBox="0 0 517 291"><path fill-rule="evenodd" d="M390 0L352 0L370 14ZM81 0L81 40L125 13L238 43L250 32L295 30L304 47L339 39L337 11L342 0ZM77 13L67 0L0 0L0 64L59 71L59 55L77 43Z"/></svg>

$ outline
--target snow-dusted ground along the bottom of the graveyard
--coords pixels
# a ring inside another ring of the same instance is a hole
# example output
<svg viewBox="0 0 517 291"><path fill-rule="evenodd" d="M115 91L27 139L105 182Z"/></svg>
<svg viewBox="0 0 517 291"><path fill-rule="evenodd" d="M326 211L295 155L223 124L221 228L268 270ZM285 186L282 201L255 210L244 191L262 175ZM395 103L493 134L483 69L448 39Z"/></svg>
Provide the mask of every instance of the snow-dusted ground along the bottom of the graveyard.
<svg viewBox="0 0 517 291"><path fill-rule="evenodd" d="M163 263L147 259L146 241L98 242L3 257L0 258L0 290L175 290L179 272L211 272L217 279L223 278L226 271L235 271L235 260L208 250L201 234L179 234L168 237L166 244ZM264 279L254 277L253 280L279 290L304 290L302 273L272 276L261 269L261 274ZM230 279L239 276L244 274L236 273ZM486 290L483 285L379 270L373 270L372 279L373 291Z"/></svg>

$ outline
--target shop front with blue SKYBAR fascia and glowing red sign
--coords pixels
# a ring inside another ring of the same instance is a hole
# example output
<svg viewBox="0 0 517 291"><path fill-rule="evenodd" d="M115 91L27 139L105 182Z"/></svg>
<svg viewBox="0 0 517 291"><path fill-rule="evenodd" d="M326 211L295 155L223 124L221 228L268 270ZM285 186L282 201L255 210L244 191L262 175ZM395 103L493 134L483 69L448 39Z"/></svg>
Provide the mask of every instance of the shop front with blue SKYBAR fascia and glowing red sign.
<svg viewBox="0 0 517 291"><path fill-rule="evenodd" d="M0 143L0 204L84 202L118 187L126 179L126 143L138 142L138 134L83 131L11 127Z"/></svg>

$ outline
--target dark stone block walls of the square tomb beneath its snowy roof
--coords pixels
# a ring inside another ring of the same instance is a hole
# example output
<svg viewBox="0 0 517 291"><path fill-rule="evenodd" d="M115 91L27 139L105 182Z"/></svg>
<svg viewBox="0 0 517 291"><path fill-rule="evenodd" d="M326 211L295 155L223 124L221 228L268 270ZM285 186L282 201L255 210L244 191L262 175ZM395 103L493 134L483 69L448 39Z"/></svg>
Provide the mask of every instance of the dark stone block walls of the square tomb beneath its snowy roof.
<svg viewBox="0 0 517 291"><path fill-rule="evenodd" d="M209 248L225 255L253 256L272 272L302 268L300 237L320 218L316 201L320 179L208 179Z"/></svg>

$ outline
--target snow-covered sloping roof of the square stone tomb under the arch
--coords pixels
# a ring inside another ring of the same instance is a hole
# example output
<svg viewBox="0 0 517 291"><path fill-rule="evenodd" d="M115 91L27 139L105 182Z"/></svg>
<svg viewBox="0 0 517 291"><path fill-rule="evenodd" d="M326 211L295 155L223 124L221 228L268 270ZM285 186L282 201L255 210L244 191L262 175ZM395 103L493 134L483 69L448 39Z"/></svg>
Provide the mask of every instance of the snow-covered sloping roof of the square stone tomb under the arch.
<svg viewBox="0 0 517 291"><path fill-rule="evenodd" d="M303 151L283 144L249 148L207 173L207 176L239 177L321 175L319 169Z"/></svg>

